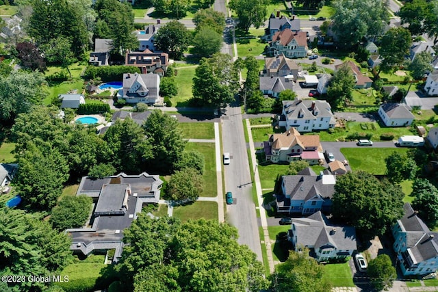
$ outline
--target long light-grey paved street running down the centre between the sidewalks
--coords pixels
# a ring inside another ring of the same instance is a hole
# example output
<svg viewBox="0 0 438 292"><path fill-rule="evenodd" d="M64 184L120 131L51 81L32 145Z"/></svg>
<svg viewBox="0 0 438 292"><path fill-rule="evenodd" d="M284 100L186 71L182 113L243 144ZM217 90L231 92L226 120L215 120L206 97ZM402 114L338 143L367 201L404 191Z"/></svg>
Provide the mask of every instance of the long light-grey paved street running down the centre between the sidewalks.
<svg viewBox="0 0 438 292"><path fill-rule="evenodd" d="M233 204L227 205L227 222L237 228L238 242L248 245L259 261L263 261L242 114L237 103L227 107L222 116L222 144L224 152L231 154L231 163L224 165L224 191L231 191L235 198Z"/></svg>

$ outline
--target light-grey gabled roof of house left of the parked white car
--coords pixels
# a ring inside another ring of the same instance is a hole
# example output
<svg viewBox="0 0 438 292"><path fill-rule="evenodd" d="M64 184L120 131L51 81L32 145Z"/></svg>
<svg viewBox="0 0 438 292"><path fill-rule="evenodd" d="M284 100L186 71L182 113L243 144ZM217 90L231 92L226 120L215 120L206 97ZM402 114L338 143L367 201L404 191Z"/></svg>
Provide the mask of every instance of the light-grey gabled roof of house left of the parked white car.
<svg viewBox="0 0 438 292"><path fill-rule="evenodd" d="M297 245L314 246L315 250L330 243L338 250L356 250L356 230L354 227L334 225L321 211L307 218L293 218Z"/></svg>

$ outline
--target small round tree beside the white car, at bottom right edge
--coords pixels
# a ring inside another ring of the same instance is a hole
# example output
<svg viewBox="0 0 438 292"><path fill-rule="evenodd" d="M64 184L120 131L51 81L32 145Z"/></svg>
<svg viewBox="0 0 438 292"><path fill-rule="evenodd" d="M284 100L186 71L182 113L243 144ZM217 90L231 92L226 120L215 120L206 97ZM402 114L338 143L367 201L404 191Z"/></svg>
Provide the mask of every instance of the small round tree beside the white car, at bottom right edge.
<svg viewBox="0 0 438 292"><path fill-rule="evenodd" d="M380 254L372 259L368 265L367 274L377 291L391 288L397 277L396 268L387 254Z"/></svg>

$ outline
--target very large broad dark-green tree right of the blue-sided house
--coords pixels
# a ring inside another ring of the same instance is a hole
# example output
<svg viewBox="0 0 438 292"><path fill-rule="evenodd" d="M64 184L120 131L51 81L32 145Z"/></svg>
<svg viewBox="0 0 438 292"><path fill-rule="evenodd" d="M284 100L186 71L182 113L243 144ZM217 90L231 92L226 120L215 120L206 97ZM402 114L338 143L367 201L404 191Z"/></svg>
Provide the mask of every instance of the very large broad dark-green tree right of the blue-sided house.
<svg viewBox="0 0 438 292"><path fill-rule="evenodd" d="M402 217L403 197L400 187L389 181L378 181L368 172L348 172L336 180L333 218L374 237Z"/></svg>

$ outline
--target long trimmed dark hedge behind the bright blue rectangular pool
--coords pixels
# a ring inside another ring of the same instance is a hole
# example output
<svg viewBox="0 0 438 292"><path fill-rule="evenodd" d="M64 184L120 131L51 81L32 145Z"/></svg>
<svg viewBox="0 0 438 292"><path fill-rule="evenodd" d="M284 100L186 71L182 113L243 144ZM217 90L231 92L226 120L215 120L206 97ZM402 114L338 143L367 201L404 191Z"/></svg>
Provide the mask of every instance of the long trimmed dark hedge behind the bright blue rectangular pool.
<svg viewBox="0 0 438 292"><path fill-rule="evenodd" d="M88 66L83 72L84 79L96 79L101 77L103 82L121 81L123 73L140 73L136 66Z"/></svg>

